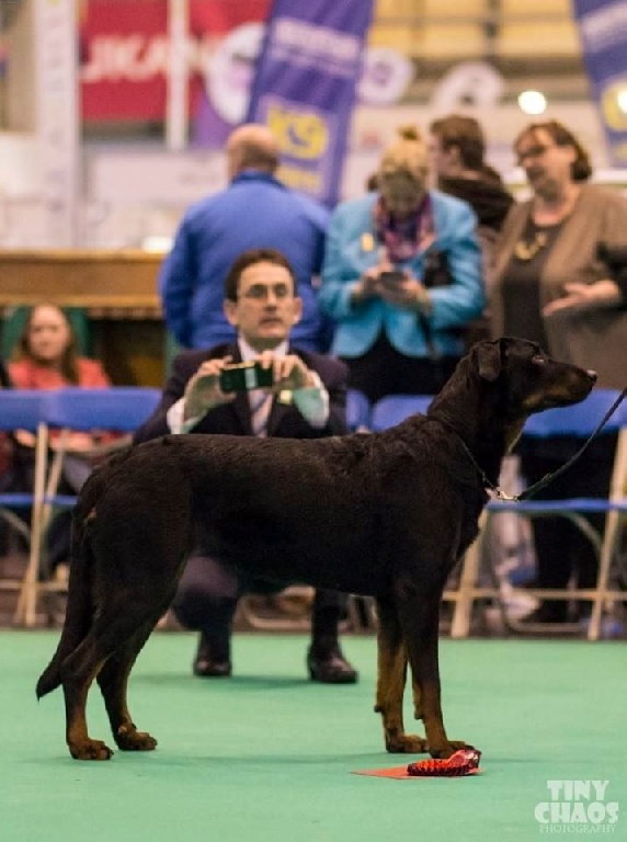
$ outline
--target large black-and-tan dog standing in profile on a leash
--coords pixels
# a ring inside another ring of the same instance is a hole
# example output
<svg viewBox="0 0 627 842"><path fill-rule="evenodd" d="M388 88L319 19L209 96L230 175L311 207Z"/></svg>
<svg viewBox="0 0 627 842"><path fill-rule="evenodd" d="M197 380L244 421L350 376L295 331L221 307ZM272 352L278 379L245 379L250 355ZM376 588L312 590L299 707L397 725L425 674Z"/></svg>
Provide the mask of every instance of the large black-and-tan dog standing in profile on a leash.
<svg viewBox="0 0 627 842"><path fill-rule="evenodd" d="M387 750L447 758L464 747L446 736L441 710L444 584L477 535L485 478L498 482L525 419L582 400L595 377L531 342L480 342L426 417L383 433L316 441L168 435L113 457L80 494L66 622L37 683L38 697L62 684L72 756L112 754L87 730L94 679L117 746L156 747L133 722L126 685L198 543L255 577L375 596L375 709ZM425 739L403 728L408 659Z"/></svg>

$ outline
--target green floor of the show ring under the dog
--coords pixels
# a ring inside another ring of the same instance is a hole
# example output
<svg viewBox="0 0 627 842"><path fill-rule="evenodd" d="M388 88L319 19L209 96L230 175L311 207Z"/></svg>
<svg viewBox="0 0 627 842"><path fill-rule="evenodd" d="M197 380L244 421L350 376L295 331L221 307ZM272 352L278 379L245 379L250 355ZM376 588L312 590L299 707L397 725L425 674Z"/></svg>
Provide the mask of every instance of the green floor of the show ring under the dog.
<svg viewBox="0 0 627 842"><path fill-rule="evenodd" d="M79 763L60 692L35 699L57 636L0 633L1 842L529 842L556 780L607 781L618 821L551 835L627 839L624 642L443 640L448 733L483 774L390 781L350 774L403 762L381 750L371 637L345 640L360 683L332 687L305 680L305 637L238 636L237 676L212 682L191 676L192 636L156 634L130 706L158 750ZM90 725L110 741L98 691Z"/></svg>

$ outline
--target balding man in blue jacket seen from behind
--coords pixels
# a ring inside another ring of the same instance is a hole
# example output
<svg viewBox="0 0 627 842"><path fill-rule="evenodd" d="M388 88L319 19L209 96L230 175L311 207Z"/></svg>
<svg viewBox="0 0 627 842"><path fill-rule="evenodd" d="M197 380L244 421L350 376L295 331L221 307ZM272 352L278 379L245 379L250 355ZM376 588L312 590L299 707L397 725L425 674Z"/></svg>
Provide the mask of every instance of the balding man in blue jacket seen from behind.
<svg viewBox="0 0 627 842"><path fill-rule="evenodd" d="M161 268L159 293L169 331L184 348L232 341L223 310L229 266L242 251L274 248L294 268L303 300L292 340L326 351L328 321L318 310L314 278L322 264L329 212L275 178L278 144L266 126L235 129L226 152L228 187L187 210Z"/></svg>

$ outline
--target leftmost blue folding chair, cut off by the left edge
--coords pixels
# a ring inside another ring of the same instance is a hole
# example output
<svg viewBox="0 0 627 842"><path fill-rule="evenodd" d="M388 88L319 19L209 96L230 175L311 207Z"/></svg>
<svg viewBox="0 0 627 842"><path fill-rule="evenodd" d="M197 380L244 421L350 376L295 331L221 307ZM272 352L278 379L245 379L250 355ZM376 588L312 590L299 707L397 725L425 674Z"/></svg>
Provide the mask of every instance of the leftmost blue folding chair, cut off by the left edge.
<svg viewBox="0 0 627 842"><path fill-rule="evenodd" d="M1 579L0 588L3 590L16 590L22 593L27 577L34 568L35 559L39 557L41 514L44 497L46 447L41 428L43 392L29 389L1 389L0 390L0 431L14 433L25 430L36 436L35 440L35 470L33 487L29 491L0 493L0 517L13 527L26 542L29 547L29 564L24 578ZM18 512L27 512L27 521L22 520ZM15 611L15 622L20 621L22 600Z"/></svg>

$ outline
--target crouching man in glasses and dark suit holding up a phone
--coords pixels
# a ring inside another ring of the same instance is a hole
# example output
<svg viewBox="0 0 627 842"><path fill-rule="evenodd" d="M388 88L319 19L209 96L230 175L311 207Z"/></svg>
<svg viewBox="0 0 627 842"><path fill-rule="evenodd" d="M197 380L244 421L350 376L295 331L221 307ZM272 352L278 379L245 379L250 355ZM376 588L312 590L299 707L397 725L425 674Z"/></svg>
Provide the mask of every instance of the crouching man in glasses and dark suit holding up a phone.
<svg viewBox="0 0 627 842"><path fill-rule="evenodd" d="M274 249L244 252L227 274L225 295L225 315L237 331L237 341L179 354L161 402L136 432L135 442L170 432L287 439L346 432L345 366L289 342L303 303L296 295L295 273L286 258ZM225 367L253 360L272 373L273 385L251 391L223 390L220 374ZM187 559L172 605L184 626L201 633L194 673L202 678L229 676L232 618L239 598L281 589L276 582L250 579L231 567L228 558L209 557L198 546ZM338 640L345 605L343 594L316 592L307 655L314 681L347 684L357 680Z"/></svg>

